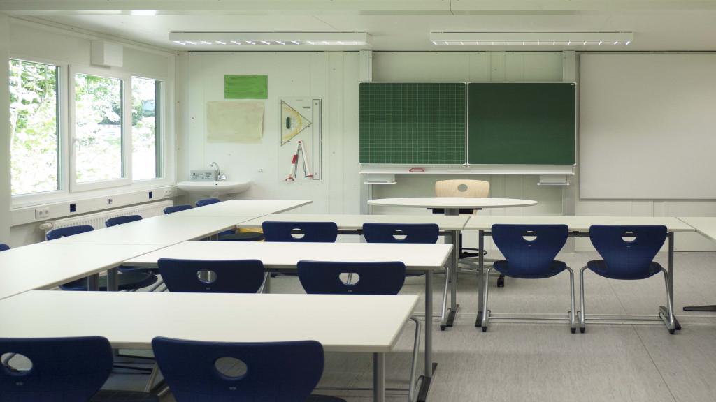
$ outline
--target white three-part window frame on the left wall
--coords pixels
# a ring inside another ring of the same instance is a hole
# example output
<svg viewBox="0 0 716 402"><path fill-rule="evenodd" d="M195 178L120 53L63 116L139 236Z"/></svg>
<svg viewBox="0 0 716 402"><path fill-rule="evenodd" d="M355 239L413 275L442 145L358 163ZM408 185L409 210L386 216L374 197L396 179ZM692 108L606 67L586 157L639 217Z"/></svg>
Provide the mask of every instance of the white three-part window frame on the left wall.
<svg viewBox="0 0 716 402"><path fill-rule="evenodd" d="M73 64L54 59L45 59L43 57L27 56L24 54L9 54L9 59L19 60L21 62L51 64L57 67L57 102L59 121L59 190L47 192L34 192L23 195L11 196L11 210L20 210L26 207L37 205L50 205L57 202L67 202L74 200L84 200L88 197L104 197L106 195L117 195L125 192L135 192L137 190L151 189L154 187L165 187L175 185L175 155L173 147L175 139L173 134L170 135L169 130L173 130L173 112L168 109L168 105L172 104L173 90L169 87L173 85L173 77L158 77L152 74L143 74L142 72L131 72L117 69L102 69L100 67L91 67L81 64ZM89 74L99 77L110 77L124 79L123 87L123 116L124 124L122 134L125 142L122 148L122 159L125 166L125 177L121 180L104 180L102 182L91 183L75 183L74 180L74 147L72 146L72 138L74 137L74 74ZM153 79L161 82L160 92L160 158L157 160L157 169L160 177L145 180L132 180L132 77L142 79ZM14 134L14 133L11 133ZM12 155L10 155L12 157ZM100 185L95 185L100 183Z"/></svg>

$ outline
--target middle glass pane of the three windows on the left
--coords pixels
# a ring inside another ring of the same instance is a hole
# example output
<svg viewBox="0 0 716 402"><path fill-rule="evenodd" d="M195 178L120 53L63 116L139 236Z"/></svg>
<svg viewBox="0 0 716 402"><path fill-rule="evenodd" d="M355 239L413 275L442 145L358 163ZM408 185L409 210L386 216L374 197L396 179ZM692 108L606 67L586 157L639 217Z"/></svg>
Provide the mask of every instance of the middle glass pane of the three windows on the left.
<svg viewBox="0 0 716 402"><path fill-rule="evenodd" d="M77 182L122 178L122 80L75 74L74 121Z"/></svg>

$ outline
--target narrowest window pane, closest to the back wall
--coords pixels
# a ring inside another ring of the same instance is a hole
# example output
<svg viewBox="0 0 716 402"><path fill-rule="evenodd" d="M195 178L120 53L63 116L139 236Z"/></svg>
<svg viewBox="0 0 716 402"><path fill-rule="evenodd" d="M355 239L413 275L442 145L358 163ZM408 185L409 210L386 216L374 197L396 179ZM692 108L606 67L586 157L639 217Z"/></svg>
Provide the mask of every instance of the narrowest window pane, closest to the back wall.
<svg viewBox="0 0 716 402"><path fill-rule="evenodd" d="M160 94L161 82L132 78L132 180L161 176L157 158Z"/></svg>

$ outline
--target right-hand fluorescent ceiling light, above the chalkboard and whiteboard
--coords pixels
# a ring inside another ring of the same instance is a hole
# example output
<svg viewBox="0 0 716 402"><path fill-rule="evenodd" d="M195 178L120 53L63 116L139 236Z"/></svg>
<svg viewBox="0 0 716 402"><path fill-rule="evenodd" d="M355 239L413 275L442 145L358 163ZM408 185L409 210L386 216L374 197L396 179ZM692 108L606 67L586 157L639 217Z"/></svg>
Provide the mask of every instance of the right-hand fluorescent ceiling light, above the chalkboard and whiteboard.
<svg viewBox="0 0 716 402"><path fill-rule="evenodd" d="M437 46L460 45L624 45L634 40L633 32L430 32Z"/></svg>

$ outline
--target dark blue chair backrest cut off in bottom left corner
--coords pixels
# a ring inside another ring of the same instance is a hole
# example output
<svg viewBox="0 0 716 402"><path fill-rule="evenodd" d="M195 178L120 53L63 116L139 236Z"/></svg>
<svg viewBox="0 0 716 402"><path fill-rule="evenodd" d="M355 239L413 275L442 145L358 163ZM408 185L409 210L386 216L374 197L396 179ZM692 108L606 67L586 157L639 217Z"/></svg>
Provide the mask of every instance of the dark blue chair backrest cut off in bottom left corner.
<svg viewBox="0 0 716 402"><path fill-rule="evenodd" d="M0 401L89 401L112 371L112 348L99 336L0 338L0 356L6 353L29 358L32 368L0 366Z"/></svg>

